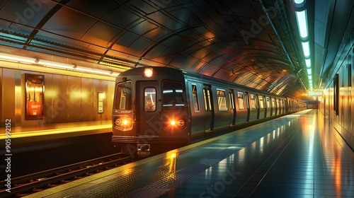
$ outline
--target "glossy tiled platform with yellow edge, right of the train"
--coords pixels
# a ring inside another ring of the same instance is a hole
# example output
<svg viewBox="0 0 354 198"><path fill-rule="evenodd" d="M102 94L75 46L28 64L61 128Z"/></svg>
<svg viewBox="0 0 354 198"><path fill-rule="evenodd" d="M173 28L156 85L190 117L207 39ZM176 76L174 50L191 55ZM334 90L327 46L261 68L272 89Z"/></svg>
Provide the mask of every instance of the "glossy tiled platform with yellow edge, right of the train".
<svg viewBox="0 0 354 198"><path fill-rule="evenodd" d="M354 153L304 110L28 197L354 197Z"/></svg>

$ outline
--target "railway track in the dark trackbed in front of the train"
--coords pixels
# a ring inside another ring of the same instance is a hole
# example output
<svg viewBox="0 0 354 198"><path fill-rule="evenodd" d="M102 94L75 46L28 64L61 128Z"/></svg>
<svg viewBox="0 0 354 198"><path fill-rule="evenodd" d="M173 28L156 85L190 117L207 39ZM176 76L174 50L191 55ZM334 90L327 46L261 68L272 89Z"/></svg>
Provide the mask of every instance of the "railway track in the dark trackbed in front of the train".
<svg viewBox="0 0 354 198"><path fill-rule="evenodd" d="M6 182L0 182L0 197L24 197L28 194L55 187L73 180L80 179L104 170L118 167L132 161L130 156L122 153L103 156L89 161L64 165L59 168L44 170L30 175L11 179L11 192L6 192Z"/></svg>

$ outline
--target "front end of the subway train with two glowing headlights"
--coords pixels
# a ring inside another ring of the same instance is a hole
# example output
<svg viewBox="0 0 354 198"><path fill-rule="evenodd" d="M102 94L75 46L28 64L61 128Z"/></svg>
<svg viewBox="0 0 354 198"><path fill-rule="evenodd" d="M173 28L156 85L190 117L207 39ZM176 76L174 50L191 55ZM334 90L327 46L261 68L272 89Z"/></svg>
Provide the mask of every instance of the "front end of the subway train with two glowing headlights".
<svg viewBox="0 0 354 198"><path fill-rule="evenodd" d="M122 153L140 157L189 144L185 93L178 69L142 67L120 74L113 100L113 143Z"/></svg>

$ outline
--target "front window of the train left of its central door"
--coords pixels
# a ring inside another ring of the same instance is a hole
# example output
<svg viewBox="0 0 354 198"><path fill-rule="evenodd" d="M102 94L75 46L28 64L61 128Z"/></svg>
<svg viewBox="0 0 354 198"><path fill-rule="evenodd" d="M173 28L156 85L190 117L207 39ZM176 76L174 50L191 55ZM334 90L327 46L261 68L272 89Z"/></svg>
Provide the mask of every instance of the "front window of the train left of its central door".
<svg viewBox="0 0 354 198"><path fill-rule="evenodd" d="M132 110L132 82L117 84L114 107L115 110Z"/></svg>

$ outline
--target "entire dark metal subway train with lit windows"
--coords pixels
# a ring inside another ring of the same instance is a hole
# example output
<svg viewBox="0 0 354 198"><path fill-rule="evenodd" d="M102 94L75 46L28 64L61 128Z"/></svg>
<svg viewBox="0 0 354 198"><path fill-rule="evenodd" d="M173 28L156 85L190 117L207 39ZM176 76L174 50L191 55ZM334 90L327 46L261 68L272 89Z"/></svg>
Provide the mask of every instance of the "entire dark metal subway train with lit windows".
<svg viewBox="0 0 354 198"><path fill-rule="evenodd" d="M112 141L139 156L306 108L290 98L167 67L130 69L115 82Z"/></svg>

